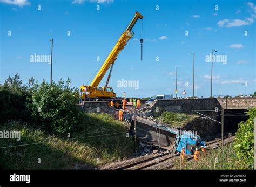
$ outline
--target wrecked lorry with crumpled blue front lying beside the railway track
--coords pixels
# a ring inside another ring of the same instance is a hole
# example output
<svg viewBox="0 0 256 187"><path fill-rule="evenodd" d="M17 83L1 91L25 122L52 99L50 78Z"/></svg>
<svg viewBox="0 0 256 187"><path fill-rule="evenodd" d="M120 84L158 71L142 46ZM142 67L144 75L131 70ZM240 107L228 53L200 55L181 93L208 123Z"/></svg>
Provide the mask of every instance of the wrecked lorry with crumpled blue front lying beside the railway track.
<svg viewBox="0 0 256 187"><path fill-rule="evenodd" d="M143 117L136 118L136 130L134 129L132 117L129 132L131 135L134 135L135 131L137 140L169 150L171 153L180 152L182 147L184 147L185 153L191 154L191 147L194 149L195 147L205 145L196 133L169 128L166 124L158 124Z"/></svg>

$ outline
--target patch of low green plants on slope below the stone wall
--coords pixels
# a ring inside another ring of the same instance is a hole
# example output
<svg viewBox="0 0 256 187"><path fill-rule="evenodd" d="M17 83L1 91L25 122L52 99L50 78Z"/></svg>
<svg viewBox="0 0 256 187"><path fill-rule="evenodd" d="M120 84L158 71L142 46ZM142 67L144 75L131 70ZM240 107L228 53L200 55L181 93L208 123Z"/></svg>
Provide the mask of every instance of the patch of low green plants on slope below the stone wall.
<svg viewBox="0 0 256 187"><path fill-rule="evenodd" d="M186 123L195 119L197 115L190 115L185 113L164 112L157 117L163 123L170 124L171 127L183 127Z"/></svg>

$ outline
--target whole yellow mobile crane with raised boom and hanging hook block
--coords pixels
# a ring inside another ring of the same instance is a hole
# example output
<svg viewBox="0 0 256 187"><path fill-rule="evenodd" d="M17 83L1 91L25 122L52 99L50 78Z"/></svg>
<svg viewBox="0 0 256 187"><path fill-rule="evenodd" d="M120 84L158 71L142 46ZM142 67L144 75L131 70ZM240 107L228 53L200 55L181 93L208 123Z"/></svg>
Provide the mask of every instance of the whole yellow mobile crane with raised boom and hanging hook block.
<svg viewBox="0 0 256 187"><path fill-rule="evenodd" d="M95 99L98 100L114 100L114 105L116 108L120 105L120 99L116 98L116 93L113 92L113 88L109 87L109 80L111 77L111 72L113 68L114 61L117 59L118 54L122 51L127 44L127 42L132 38L134 32L132 32L133 26L136 24L138 19L143 19L143 16L140 15L139 12L136 12L131 23L127 27L127 29L122 33L119 40L117 41L116 45L113 47L112 51L107 56L106 60L104 61L102 67L100 68L99 72L97 73L96 77L91 82L90 86L81 86L80 93L82 95L83 101L93 101ZM140 39L141 47L143 43L143 39ZM111 68L110 68L111 66ZM107 77L106 85L104 87L99 87L100 81L103 79L107 70L109 70L109 76Z"/></svg>

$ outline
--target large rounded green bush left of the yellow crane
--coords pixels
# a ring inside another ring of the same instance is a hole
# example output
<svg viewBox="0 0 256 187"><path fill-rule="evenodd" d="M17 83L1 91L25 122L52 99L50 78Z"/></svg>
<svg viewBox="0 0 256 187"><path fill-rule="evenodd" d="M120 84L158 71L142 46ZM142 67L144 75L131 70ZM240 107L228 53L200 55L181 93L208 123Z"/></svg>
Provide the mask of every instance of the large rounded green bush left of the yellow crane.
<svg viewBox="0 0 256 187"><path fill-rule="evenodd" d="M77 94L69 85L70 79L66 84L60 79L57 85L43 80L41 85L35 84L30 89L26 107L33 121L50 133L71 133L81 120Z"/></svg>

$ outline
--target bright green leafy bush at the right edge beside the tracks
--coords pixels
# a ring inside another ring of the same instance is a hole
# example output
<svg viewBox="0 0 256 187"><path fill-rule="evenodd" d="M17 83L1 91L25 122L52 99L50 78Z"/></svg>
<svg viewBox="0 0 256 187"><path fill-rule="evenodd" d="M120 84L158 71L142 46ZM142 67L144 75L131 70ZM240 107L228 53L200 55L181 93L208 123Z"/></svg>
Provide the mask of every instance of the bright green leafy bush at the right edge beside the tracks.
<svg viewBox="0 0 256 187"><path fill-rule="evenodd" d="M249 119L246 122L238 124L234 149L238 156L238 162L241 165L245 163L248 169L253 169L254 162L254 134L253 124L256 117L256 107L249 109L247 114Z"/></svg>

